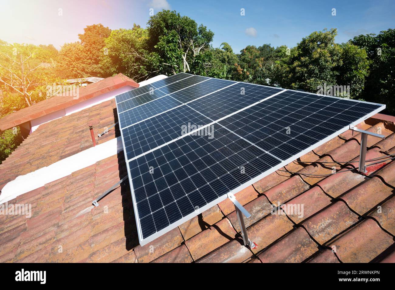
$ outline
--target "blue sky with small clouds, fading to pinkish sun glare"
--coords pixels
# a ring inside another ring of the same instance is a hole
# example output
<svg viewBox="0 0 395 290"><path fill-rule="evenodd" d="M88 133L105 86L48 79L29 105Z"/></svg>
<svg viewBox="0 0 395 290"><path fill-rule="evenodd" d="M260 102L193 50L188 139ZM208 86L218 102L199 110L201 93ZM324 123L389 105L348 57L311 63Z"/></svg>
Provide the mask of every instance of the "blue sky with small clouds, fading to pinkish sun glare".
<svg viewBox="0 0 395 290"><path fill-rule="evenodd" d="M90 24L111 29L146 26L149 9L163 8L203 23L214 32L213 46L295 46L324 28L337 28L337 42L395 28L395 1L176 1L176 0L0 0L0 39L60 48L78 40ZM241 8L245 16L241 16ZM332 15L332 9L336 15ZM62 9L62 15L59 15Z"/></svg>

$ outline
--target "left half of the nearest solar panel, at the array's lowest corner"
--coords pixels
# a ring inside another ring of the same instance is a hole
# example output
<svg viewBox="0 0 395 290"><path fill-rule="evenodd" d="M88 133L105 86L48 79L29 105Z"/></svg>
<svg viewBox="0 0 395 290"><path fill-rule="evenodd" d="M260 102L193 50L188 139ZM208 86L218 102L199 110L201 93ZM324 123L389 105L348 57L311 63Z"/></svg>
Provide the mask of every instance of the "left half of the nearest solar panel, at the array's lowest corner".
<svg viewBox="0 0 395 290"><path fill-rule="evenodd" d="M129 162L143 238L226 195L280 160L214 124Z"/></svg>

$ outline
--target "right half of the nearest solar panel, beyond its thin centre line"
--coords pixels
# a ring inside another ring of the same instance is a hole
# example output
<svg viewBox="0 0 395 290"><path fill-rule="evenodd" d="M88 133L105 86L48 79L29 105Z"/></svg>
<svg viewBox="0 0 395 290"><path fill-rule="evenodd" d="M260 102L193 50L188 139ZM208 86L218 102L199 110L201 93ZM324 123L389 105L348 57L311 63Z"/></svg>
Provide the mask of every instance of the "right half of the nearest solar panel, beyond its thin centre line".
<svg viewBox="0 0 395 290"><path fill-rule="evenodd" d="M219 123L286 160L378 109L341 98L286 91Z"/></svg>

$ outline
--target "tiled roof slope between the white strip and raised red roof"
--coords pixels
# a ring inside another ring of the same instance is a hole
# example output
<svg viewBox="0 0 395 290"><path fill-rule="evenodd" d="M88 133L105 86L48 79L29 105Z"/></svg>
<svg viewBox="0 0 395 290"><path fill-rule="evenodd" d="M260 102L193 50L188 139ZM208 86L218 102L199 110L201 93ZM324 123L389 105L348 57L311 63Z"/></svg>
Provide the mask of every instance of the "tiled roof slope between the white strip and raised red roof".
<svg viewBox="0 0 395 290"><path fill-rule="evenodd" d="M115 108L115 99L112 99L41 124L0 164L0 190L19 175L49 166L92 147L90 124L97 144L113 139L115 130L109 130L100 138L97 134L118 121L117 114L114 115Z"/></svg>

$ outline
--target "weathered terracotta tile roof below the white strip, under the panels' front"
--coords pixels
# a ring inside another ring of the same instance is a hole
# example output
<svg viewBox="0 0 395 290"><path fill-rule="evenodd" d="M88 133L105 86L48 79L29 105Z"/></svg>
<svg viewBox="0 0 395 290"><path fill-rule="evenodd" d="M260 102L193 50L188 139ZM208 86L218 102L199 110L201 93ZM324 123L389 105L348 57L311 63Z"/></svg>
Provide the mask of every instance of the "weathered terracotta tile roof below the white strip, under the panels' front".
<svg viewBox="0 0 395 290"><path fill-rule="evenodd" d="M66 126L65 118L59 122ZM391 118L375 115L358 125L387 136L383 141L369 136L367 159L395 154ZM36 143L77 142L77 135L66 132L47 138ZM298 159L306 163L292 162L282 168L288 172L276 171L235 194L252 214L245 222L256 249L241 244L229 200L138 245L128 182L98 207L91 205L127 175L120 152L9 201L32 204L32 217L0 215L0 262L393 262L395 162L368 167L366 176L355 170L319 178L301 175L331 173L331 166L311 161L358 160L359 140L360 134L345 132ZM41 154L26 153L32 159ZM304 216L272 215L271 204L277 202L303 204Z"/></svg>

